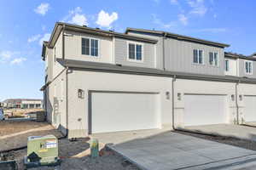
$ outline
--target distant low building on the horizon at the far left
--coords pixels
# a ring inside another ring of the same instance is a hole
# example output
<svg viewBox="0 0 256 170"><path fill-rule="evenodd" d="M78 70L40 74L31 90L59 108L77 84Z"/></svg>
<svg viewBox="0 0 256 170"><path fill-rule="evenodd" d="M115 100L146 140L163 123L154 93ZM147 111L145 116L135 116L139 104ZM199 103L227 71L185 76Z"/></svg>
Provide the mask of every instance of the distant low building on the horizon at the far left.
<svg viewBox="0 0 256 170"><path fill-rule="evenodd" d="M6 108L34 109L43 108L42 99L5 99L3 106Z"/></svg>

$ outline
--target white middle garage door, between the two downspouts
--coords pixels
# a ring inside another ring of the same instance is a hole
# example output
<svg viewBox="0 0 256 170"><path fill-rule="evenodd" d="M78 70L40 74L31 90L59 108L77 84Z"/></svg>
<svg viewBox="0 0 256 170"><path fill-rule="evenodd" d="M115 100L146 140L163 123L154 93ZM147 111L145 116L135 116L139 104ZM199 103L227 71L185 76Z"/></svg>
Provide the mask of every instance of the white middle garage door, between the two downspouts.
<svg viewBox="0 0 256 170"><path fill-rule="evenodd" d="M226 96L185 94L184 125L210 125L226 123Z"/></svg>

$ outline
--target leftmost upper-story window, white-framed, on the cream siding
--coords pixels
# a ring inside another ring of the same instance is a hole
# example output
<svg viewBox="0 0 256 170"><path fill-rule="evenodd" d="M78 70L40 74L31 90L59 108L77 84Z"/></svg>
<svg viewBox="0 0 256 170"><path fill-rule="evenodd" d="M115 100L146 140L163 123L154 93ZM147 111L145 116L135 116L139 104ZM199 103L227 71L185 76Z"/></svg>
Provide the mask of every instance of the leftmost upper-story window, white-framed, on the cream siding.
<svg viewBox="0 0 256 170"><path fill-rule="evenodd" d="M97 57L99 55L99 40L82 37L82 54Z"/></svg>

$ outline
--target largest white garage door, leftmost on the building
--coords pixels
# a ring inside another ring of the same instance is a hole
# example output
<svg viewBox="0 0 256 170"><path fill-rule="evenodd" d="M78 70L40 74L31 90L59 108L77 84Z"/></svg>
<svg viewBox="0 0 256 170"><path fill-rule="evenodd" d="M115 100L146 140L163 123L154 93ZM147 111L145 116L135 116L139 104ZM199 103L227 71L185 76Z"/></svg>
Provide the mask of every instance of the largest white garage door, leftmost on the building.
<svg viewBox="0 0 256 170"><path fill-rule="evenodd" d="M160 128L159 94L91 93L90 133Z"/></svg>

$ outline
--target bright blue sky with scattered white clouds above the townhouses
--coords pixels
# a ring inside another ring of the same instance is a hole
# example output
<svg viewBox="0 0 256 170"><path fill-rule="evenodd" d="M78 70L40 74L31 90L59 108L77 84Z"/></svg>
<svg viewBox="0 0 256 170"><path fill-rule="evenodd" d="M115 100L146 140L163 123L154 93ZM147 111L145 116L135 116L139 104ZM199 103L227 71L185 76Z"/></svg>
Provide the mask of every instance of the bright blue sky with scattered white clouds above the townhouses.
<svg viewBox="0 0 256 170"><path fill-rule="evenodd" d="M55 21L125 31L137 27L229 43L256 52L254 0L5 0L0 5L0 101L43 98L41 42Z"/></svg>

